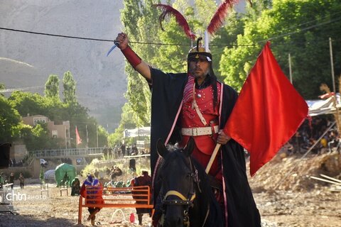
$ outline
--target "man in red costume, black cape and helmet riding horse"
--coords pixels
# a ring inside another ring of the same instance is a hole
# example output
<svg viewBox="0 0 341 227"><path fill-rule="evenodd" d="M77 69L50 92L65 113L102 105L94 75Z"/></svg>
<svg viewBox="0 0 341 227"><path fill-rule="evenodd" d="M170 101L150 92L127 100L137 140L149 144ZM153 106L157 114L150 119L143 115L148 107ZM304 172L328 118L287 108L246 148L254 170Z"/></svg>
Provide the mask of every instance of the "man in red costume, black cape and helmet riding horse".
<svg viewBox="0 0 341 227"><path fill-rule="evenodd" d="M185 145L195 140L193 157L206 167L217 143L222 145L209 175L217 201L228 226L261 226L259 211L247 180L244 148L221 129L231 114L237 92L217 81L212 54L197 40L188 53L188 72L165 73L155 69L129 47L128 35L119 33L115 43L126 60L151 86L151 171L154 204L159 200L160 184L155 179L161 157L156 142ZM205 43L208 45L208 43ZM158 206L156 206L157 208ZM156 209L153 221L158 221ZM155 224L154 224L155 225Z"/></svg>

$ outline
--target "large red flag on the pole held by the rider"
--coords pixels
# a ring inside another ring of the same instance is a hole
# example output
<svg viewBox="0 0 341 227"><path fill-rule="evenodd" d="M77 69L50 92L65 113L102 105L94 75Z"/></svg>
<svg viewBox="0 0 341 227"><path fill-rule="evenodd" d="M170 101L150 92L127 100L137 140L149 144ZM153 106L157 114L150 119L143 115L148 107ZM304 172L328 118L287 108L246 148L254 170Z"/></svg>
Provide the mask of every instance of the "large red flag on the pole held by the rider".
<svg viewBox="0 0 341 227"><path fill-rule="evenodd" d="M245 81L224 133L250 153L253 176L296 133L308 105L281 71L266 43Z"/></svg>

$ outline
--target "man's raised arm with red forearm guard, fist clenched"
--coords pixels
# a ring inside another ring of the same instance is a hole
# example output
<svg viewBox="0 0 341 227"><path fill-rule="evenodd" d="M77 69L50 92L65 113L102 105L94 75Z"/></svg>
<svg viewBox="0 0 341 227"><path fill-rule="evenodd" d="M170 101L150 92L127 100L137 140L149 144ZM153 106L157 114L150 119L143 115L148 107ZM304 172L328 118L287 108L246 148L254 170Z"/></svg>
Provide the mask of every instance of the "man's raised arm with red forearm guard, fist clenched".
<svg viewBox="0 0 341 227"><path fill-rule="evenodd" d="M125 33L119 33L115 40L118 43L117 47L121 49L121 52L124 54L130 65L134 67L139 74L146 78L148 82L151 82L151 69L146 62L136 55L134 50L131 50L128 45L128 35Z"/></svg>

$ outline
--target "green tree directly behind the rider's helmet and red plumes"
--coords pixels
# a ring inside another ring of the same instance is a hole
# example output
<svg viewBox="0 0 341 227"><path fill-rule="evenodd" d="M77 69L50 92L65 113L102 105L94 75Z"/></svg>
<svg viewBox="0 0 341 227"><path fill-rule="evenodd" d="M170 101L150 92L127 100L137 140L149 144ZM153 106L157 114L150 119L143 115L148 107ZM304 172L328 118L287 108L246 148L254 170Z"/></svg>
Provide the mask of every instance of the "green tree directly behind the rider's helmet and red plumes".
<svg viewBox="0 0 341 227"><path fill-rule="evenodd" d="M204 37L205 29L210 23L212 16L217 10L215 1L196 0L193 6L188 1L177 0L173 7L185 16L193 33L198 37ZM228 13L225 25L220 28L215 35L210 35L210 50L213 56L214 68L217 69L220 55L222 55L223 45L233 45L236 43L237 35L244 26L241 16L233 11ZM163 23L164 32L160 32L161 43L171 43L180 45L161 45L158 53L153 58L153 65L160 67L165 72L185 72L187 70L187 55L191 47L190 40L185 36L182 28L175 22L175 18L170 18ZM192 45L195 45L195 41ZM215 74L219 77L217 70Z"/></svg>

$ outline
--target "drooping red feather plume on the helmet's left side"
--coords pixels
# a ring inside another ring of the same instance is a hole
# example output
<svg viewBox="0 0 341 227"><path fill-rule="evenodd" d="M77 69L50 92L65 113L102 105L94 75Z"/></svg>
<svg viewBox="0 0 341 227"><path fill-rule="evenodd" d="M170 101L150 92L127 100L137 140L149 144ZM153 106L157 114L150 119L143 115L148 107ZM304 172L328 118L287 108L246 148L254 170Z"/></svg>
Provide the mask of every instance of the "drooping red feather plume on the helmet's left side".
<svg viewBox="0 0 341 227"><path fill-rule="evenodd" d="M179 11L174 9L172 6L168 6L165 4L153 4L153 6L162 10L162 13L158 18L162 30L163 30L162 21L165 20L166 16L171 15L175 17L175 21L181 28L183 28L183 31L185 31L185 34L188 36L188 38L195 40L195 34L192 33L192 31L190 31L190 26L188 25L188 22Z"/></svg>

